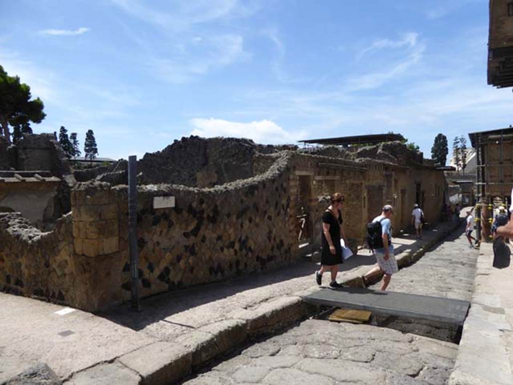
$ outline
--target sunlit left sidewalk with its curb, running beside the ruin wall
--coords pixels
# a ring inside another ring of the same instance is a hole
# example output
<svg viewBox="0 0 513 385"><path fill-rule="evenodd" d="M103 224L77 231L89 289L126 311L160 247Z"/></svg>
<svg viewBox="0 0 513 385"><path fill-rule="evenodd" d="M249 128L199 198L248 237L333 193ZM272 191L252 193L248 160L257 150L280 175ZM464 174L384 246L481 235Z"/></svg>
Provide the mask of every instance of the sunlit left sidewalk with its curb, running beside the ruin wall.
<svg viewBox="0 0 513 385"><path fill-rule="evenodd" d="M418 259L454 227L440 224L421 241L394 238L400 265ZM338 280L356 285L374 262L363 251L341 266ZM302 319L311 308L299 295L317 290L317 268L303 261L154 296L142 301L141 313L124 305L97 315L80 310L61 315L56 312L62 306L0 293L0 383L38 361L75 384L93 378L112 383L113 373L124 373L127 384L177 380L248 339Z"/></svg>

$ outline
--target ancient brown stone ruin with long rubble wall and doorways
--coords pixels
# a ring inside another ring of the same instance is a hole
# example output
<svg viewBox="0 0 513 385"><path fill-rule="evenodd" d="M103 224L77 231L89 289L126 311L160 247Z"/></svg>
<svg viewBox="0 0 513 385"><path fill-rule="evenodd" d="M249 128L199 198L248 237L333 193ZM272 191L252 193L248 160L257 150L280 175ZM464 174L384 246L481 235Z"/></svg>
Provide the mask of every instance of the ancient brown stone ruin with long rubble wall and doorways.
<svg viewBox="0 0 513 385"><path fill-rule="evenodd" d="M191 136L146 154L137 169L142 296L292 264L300 244L319 246L333 192L346 197L344 226L356 248L386 203L396 207L396 232L416 202L436 222L447 189L443 171L400 143L299 149ZM0 288L103 310L130 297L127 163L73 179L70 212L51 231L21 213L0 214ZM0 206L7 185L0 180ZM175 207L155 208L163 196Z"/></svg>

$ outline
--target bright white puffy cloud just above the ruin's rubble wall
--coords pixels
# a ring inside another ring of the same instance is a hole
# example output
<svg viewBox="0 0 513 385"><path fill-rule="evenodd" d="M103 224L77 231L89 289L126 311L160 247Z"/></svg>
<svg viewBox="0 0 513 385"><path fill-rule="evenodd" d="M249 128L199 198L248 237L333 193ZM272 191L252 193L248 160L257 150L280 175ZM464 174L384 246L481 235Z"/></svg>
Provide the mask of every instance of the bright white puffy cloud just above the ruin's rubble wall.
<svg viewBox="0 0 513 385"><path fill-rule="evenodd" d="M190 124L194 127L191 135L244 137L261 144L295 143L306 136L304 130L287 131L267 119L243 123L215 118L194 118L190 120Z"/></svg>

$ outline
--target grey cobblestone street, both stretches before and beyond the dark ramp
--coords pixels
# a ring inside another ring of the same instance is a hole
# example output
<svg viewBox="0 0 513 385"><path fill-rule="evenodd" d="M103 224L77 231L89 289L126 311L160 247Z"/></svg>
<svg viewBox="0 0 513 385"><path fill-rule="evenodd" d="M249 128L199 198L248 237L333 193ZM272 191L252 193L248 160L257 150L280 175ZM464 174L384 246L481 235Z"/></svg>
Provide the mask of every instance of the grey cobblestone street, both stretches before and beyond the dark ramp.
<svg viewBox="0 0 513 385"><path fill-rule="evenodd" d="M468 248L462 230L394 275L389 289L470 299L478 252ZM185 384L442 385L447 383L457 352L456 344L396 330L307 320Z"/></svg>

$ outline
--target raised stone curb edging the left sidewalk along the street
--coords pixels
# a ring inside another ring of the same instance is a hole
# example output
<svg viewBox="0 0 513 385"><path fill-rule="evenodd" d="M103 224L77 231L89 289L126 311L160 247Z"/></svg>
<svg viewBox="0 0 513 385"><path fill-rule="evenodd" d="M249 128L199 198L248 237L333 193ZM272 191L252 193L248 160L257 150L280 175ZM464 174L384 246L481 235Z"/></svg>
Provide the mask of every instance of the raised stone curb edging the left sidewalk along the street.
<svg viewBox="0 0 513 385"><path fill-rule="evenodd" d="M427 250L437 244L460 224L441 231L419 250L402 253L398 265L406 267L419 260ZM354 272L353 272L354 273ZM360 275L342 282L346 286L360 287ZM265 335L271 335L285 329L317 311L318 307L303 301L303 296L315 292L317 287L293 293L290 296L273 299L262 303L255 309L238 309L228 313L229 319L214 322L210 325L177 337L172 342L154 342L146 347L125 354L113 362L102 363L82 372L75 373L68 385L87 382L110 385L111 380L103 381L100 373L110 373L123 366L126 385L164 385L181 380L185 376L198 371L209 361L220 357L244 343ZM136 376L130 374L137 374ZM76 381L80 378L81 381Z"/></svg>

